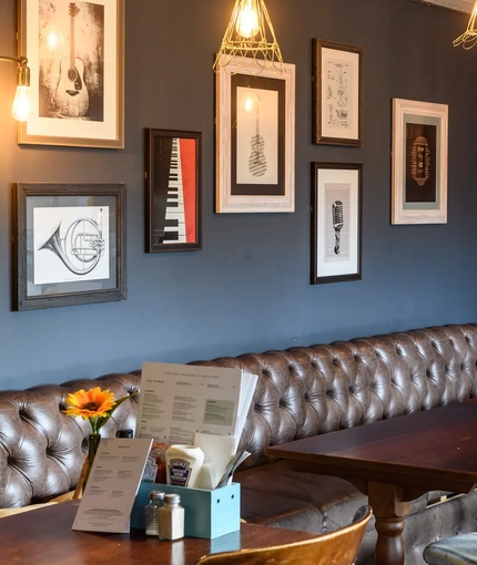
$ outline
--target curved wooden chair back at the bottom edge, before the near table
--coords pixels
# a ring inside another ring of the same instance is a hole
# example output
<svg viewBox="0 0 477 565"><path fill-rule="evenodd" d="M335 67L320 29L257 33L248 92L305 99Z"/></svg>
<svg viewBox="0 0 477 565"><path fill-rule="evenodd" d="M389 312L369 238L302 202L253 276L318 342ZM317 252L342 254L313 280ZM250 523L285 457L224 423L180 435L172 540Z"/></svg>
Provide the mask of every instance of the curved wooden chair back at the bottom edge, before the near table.
<svg viewBox="0 0 477 565"><path fill-rule="evenodd" d="M341 530L303 542L256 549L215 553L201 557L195 565L353 565L373 512L362 506L353 522Z"/></svg>

